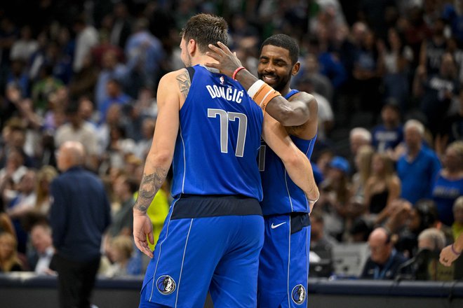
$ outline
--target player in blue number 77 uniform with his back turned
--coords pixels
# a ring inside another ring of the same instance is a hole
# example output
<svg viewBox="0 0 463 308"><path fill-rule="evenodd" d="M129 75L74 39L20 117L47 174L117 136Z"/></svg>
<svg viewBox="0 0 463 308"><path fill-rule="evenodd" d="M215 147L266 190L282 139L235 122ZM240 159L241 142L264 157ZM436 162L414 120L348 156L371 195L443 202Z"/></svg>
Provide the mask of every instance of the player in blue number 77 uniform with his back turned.
<svg viewBox="0 0 463 308"><path fill-rule="evenodd" d="M304 193L318 194L313 177L307 179L309 160L285 128L264 119L234 78L203 66L213 61L208 45L226 39L222 18L190 18L180 43L187 69L159 82L156 130L133 209L135 244L152 258L140 307L203 307L208 290L215 307L256 306L264 242L261 133ZM175 200L152 252L147 209L171 163Z"/></svg>

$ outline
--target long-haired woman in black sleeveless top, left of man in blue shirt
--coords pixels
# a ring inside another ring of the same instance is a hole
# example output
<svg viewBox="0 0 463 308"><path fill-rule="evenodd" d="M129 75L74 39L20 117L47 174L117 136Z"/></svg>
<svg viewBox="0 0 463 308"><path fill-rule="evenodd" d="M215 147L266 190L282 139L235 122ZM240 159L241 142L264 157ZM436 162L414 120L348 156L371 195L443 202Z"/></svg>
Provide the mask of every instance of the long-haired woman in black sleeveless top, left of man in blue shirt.
<svg viewBox="0 0 463 308"><path fill-rule="evenodd" d="M391 204L401 195L401 180L385 153L376 153L372 160L372 174L365 185L365 207L374 224L382 223L391 211Z"/></svg>

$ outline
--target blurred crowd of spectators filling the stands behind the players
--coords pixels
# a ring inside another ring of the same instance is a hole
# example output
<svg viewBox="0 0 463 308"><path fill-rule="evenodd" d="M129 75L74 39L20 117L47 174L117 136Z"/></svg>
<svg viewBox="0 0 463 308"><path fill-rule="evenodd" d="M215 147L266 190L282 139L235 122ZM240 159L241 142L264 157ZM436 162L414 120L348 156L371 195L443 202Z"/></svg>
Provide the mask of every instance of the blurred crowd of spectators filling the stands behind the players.
<svg viewBox="0 0 463 308"><path fill-rule="evenodd" d="M131 208L156 86L183 66L181 27L201 12L224 16L229 47L256 75L264 38L300 43L292 87L318 102L311 251L333 260L336 244L368 242L363 277L457 277L420 276L407 260L463 232L463 1L33 2L0 5L0 272L53 274L49 184L68 140L86 148L112 200L100 273L143 272ZM158 235L169 188L149 208ZM375 274L393 259L396 271Z"/></svg>

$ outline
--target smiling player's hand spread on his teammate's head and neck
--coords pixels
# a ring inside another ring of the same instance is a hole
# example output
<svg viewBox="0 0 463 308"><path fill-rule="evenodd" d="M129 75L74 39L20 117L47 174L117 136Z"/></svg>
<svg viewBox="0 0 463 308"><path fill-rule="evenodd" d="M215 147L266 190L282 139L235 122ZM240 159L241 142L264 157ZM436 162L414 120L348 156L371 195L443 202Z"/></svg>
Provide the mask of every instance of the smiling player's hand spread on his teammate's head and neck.
<svg viewBox="0 0 463 308"><path fill-rule="evenodd" d="M206 63L206 66L218 69L220 73L232 77L236 69L241 67L241 61L236 57L234 52L231 52L229 48L222 42L217 42L219 47L209 44L209 51L206 55L217 60L218 63Z"/></svg>

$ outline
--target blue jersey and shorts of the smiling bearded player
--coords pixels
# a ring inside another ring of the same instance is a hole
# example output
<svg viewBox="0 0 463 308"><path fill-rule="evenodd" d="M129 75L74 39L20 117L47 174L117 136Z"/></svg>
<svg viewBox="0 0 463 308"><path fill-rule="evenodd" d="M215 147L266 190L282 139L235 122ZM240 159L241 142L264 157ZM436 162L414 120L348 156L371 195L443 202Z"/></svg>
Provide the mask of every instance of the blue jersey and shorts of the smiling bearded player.
<svg viewBox="0 0 463 308"><path fill-rule="evenodd" d="M285 98L297 92L291 90ZM304 140L291 136L291 139L310 158L316 137ZM309 202L291 181L280 158L265 144L259 157L265 237L260 254L257 304L262 308L307 306Z"/></svg>

